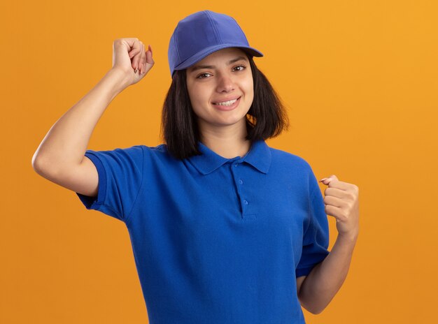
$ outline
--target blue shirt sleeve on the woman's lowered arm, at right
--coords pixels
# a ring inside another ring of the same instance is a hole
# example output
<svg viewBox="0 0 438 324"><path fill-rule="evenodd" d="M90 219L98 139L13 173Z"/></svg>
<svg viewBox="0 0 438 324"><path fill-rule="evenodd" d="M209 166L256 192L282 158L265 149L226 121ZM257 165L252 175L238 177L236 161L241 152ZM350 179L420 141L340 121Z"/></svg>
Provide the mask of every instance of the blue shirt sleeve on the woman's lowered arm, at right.
<svg viewBox="0 0 438 324"><path fill-rule="evenodd" d="M295 269L295 276L306 276L313 267L322 262L330 253L329 245L329 226L327 214L325 214L325 204L321 193L318 180L313 172L310 176L311 191L309 198L309 226L303 236L302 256Z"/></svg>

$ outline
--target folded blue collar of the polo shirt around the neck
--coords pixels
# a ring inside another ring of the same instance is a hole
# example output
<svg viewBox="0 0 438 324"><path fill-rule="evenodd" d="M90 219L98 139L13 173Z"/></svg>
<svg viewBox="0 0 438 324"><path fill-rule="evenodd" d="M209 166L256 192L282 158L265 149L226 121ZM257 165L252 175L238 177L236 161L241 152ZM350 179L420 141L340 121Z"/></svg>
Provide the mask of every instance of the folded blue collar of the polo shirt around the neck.
<svg viewBox="0 0 438 324"><path fill-rule="evenodd" d="M202 142L198 142L199 152L201 155L190 156L188 161L203 175L213 172L221 165L229 161L246 162L253 165L260 172L267 173L271 165L271 151L264 140L256 140L251 145L248 153L240 159L236 156L233 159L226 159L216 152L206 147Z"/></svg>

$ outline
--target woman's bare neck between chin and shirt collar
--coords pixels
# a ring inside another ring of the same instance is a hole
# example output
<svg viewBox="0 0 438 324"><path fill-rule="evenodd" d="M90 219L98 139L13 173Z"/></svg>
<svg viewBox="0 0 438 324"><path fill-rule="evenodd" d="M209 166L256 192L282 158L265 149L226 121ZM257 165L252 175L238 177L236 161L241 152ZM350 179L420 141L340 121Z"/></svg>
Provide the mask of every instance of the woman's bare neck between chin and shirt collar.
<svg viewBox="0 0 438 324"><path fill-rule="evenodd" d="M209 147L216 154L225 159L232 159L236 156L244 156L250 149L250 141L246 140L246 121L229 125L227 127L209 127L202 129L201 142Z"/></svg>

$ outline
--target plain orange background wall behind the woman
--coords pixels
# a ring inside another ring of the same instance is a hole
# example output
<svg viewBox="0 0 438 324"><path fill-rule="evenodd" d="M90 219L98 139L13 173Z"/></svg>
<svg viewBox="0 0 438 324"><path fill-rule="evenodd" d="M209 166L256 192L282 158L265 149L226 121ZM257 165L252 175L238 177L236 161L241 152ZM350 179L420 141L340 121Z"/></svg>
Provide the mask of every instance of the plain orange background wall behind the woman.
<svg viewBox="0 0 438 324"><path fill-rule="evenodd" d="M37 175L31 158L125 37L150 44L155 66L113 100L89 148L160 144L171 33L206 9L236 18L264 53L255 62L291 121L267 144L302 156L318 179L360 188L348 277L306 322L438 323L437 2L206 3L1 4L0 323L147 323L125 225Z"/></svg>

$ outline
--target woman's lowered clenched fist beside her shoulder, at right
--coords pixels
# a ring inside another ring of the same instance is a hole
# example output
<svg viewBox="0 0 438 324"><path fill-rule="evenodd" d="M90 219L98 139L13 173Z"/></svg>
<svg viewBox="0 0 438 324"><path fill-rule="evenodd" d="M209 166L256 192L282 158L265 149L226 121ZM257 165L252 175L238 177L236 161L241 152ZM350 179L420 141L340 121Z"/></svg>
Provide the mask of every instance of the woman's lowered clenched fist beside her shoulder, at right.
<svg viewBox="0 0 438 324"><path fill-rule="evenodd" d="M328 185L324 191L325 213L334 216L339 236L356 240L359 234L359 188L341 182L336 175L320 179Z"/></svg>

